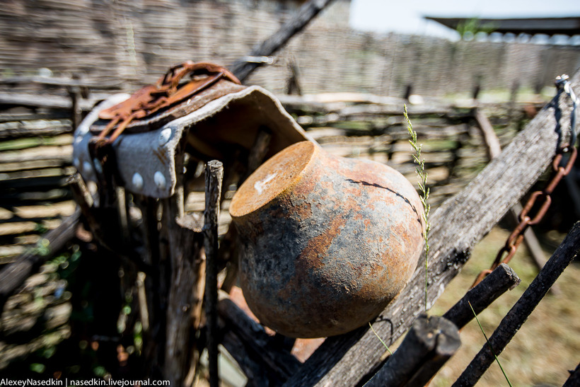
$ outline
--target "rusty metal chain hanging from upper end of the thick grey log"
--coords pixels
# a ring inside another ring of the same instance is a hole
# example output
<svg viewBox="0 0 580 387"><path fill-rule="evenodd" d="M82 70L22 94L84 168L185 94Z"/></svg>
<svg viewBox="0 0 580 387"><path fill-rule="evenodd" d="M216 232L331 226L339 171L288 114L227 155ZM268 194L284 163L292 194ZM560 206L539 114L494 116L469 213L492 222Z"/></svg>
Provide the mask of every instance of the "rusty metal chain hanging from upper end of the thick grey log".
<svg viewBox="0 0 580 387"><path fill-rule="evenodd" d="M556 79L556 86L558 88L558 96L562 91L572 99L573 108L572 116L570 117L570 141L568 145L561 146L554 159L552 160L552 178L541 191L535 191L523 206L521 213L518 216L520 223L516 226L514 231L507 238L506 244L502 247L488 270L483 270L477 275L472 287L479 284L489 273L491 273L501 263L508 263L511 258L514 258L518 246L523 241L523 233L528 229L528 226L540 223L545 216L547 209L552 204L552 192L554 192L558 183L565 175L572 170L574 161L576 160L576 107L579 105L579 100L576 98L572 87L568 81L567 75L558 76ZM564 155L568 154L568 159L564 160ZM534 209L534 212L532 211Z"/></svg>

